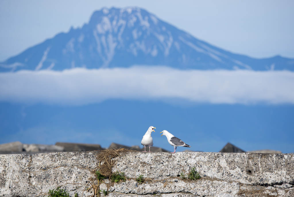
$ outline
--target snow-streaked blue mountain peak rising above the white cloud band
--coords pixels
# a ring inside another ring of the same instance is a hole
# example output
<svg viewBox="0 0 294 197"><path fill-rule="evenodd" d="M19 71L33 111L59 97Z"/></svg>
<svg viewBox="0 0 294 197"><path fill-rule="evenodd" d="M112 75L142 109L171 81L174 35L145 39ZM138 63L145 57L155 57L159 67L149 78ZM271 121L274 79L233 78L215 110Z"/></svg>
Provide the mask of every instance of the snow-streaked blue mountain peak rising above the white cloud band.
<svg viewBox="0 0 294 197"><path fill-rule="evenodd" d="M294 59L237 55L139 8L102 9L70 29L0 63L0 71L166 65L177 69L294 70Z"/></svg>

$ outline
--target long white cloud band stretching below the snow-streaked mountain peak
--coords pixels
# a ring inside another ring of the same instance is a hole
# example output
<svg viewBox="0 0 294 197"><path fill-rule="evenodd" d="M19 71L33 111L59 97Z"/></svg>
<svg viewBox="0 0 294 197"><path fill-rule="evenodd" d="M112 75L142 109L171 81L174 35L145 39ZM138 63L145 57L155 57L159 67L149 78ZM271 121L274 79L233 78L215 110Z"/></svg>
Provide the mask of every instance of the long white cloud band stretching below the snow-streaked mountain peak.
<svg viewBox="0 0 294 197"><path fill-rule="evenodd" d="M294 104L294 72L132 67L0 73L0 101L82 105L110 98Z"/></svg>

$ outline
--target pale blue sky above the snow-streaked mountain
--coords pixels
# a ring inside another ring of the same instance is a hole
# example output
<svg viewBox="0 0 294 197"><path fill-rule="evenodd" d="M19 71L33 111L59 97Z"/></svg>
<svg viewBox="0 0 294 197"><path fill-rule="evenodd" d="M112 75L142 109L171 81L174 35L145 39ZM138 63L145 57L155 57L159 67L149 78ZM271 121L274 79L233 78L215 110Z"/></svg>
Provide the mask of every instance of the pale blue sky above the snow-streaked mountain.
<svg viewBox="0 0 294 197"><path fill-rule="evenodd" d="M0 1L0 61L71 26L102 7L138 6L193 36L256 58L294 58L294 1Z"/></svg>

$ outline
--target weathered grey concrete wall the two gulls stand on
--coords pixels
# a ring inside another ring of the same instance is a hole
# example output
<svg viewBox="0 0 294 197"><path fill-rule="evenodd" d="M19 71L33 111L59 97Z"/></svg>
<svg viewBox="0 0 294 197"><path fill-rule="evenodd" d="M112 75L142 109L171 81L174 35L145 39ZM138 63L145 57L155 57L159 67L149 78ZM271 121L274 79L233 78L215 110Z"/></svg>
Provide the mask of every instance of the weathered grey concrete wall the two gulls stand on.
<svg viewBox="0 0 294 197"><path fill-rule="evenodd" d="M44 196L59 186L72 196L83 192L83 196L93 196L84 189L97 184L91 173L98 165L96 154L0 155L0 196ZM124 172L129 179L110 186L108 196L237 196L250 190L294 196L293 154L127 152L114 160L117 164L112 170ZM192 167L201 174L200 180L178 177ZM138 184L138 175L152 180ZM105 180L100 190L107 190L107 183Z"/></svg>

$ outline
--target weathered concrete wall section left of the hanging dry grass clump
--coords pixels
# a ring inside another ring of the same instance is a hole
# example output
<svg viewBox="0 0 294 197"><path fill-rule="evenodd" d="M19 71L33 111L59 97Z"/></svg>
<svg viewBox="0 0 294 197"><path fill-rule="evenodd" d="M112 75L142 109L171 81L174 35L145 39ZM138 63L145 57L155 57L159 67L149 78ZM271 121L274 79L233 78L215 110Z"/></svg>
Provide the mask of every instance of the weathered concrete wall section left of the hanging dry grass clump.
<svg viewBox="0 0 294 197"><path fill-rule="evenodd" d="M96 165L94 152L0 155L0 196L46 195L59 186L81 194Z"/></svg>

